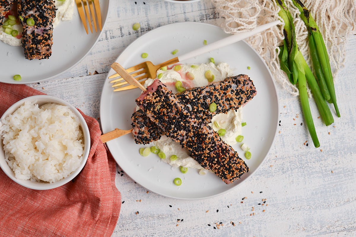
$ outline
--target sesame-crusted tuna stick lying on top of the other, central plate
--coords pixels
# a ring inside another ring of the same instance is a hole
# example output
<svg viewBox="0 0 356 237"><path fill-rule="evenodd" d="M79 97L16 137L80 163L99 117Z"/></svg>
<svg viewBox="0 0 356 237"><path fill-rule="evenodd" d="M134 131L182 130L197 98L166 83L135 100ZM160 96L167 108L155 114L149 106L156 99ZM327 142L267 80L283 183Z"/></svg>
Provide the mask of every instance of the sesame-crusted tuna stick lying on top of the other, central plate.
<svg viewBox="0 0 356 237"><path fill-rule="evenodd" d="M156 79L136 104L172 140L188 149L192 158L229 184L248 172L246 163L219 134Z"/></svg>

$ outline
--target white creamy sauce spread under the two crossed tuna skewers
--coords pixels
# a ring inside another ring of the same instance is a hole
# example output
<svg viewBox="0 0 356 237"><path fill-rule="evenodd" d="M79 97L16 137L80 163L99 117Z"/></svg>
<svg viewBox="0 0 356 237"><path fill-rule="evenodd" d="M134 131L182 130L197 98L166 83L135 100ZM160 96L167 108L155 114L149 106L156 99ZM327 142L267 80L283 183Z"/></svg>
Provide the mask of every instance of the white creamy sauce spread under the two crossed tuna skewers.
<svg viewBox="0 0 356 237"><path fill-rule="evenodd" d="M209 64L200 65L180 65L181 69L177 72L173 69L168 69L167 71L158 70L157 75L162 73L162 78L159 80L163 82L169 89L174 93L177 93L175 84L177 81L182 82L182 86L185 88L201 87L208 85L208 80L205 78L204 74L206 71L210 70L215 76L214 82L222 81L227 77L233 76L233 72L230 66L225 62L220 62L217 65L210 62ZM190 80L187 78L187 73L191 72L194 75L194 79ZM147 87L153 82L153 79L148 79L144 86ZM241 135L241 121L242 121L242 107L237 111L230 110L227 114L217 114L213 117L211 123L209 124L215 131L224 128L226 130L225 134L221 138L229 145L234 145L236 142L236 137ZM216 126L218 125L218 127ZM162 161L167 162L173 167L187 167L194 169L203 169L197 161L189 156L187 149L182 148L177 142L174 142L171 138L167 136L162 136L158 141L153 142L153 144L160 149L164 154L166 154L166 159ZM177 155L177 160L172 161L169 159L172 155ZM158 158L159 159L159 158ZM199 172L203 175L203 172Z"/></svg>

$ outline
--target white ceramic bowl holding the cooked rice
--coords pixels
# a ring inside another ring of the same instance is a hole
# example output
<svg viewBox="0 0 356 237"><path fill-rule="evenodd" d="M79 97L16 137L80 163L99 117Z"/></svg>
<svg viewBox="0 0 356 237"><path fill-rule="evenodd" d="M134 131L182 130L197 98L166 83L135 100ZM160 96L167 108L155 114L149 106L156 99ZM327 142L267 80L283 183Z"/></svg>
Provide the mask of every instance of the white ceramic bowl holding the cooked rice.
<svg viewBox="0 0 356 237"><path fill-rule="evenodd" d="M61 180L59 180L57 182L49 183L49 182L44 182L44 181L34 182L34 181L30 181L30 180L19 180L15 177L14 171L12 171L10 166L7 165L7 162L5 161L5 152L4 152L4 148L3 148L4 144L2 143L2 139L0 139L1 140L0 167L6 173L6 175L9 176L13 181L15 181L16 183L18 183L24 187L27 187L27 188L36 189L36 190L46 190L46 189L52 189L52 188L57 188L59 186L62 186L63 184L66 184L69 181L73 180L73 178L75 176L77 176L79 174L79 172L83 169L85 163L88 160L89 151L90 151L90 133L89 133L88 125L85 122L83 116L80 114L80 112L74 106L70 105L68 102L66 102L62 99L50 96L50 95L34 95L31 97L22 99L20 101L17 101L8 110L6 110L6 112L4 113L4 115L2 115L2 117L0 119L0 126L2 125L2 123L1 123L2 119L8 117L10 114L15 112L15 110L18 109L21 105L23 105L25 103L25 101L31 101L31 102L37 101L37 104L39 106L46 104L46 103L56 103L56 104L60 104L60 105L66 105L74 112L75 115L78 116L78 118L80 120L80 127L81 127L83 135L84 135L84 154L83 154L82 162L80 163L80 166L77 170L73 171L67 177L62 178Z"/></svg>

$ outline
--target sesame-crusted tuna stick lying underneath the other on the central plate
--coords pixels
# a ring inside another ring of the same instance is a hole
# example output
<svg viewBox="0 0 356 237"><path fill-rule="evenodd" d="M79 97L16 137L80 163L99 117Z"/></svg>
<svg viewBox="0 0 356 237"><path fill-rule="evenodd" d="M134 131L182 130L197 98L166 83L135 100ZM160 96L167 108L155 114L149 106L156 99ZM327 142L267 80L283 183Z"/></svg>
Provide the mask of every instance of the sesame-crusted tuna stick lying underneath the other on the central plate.
<svg viewBox="0 0 356 237"><path fill-rule="evenodd" d="M210 123L216 114L226 114L231 109L239 109L256 95L256 88L247 75L228 77L224 81L211 83L205 87L195 87L177 93L177 98L192 107L192 112ZM210 112L209 105L216 104L216 111ZM137 144L148 144L164 134L142 110L131 116L132 134Z"/></svg>

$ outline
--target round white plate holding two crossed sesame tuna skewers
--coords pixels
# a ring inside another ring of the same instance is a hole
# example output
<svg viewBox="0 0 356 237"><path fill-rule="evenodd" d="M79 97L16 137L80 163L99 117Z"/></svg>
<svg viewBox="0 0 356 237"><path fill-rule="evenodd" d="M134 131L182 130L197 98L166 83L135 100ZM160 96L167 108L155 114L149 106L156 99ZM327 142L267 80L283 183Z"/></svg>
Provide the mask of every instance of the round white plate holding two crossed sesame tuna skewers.
<svg viewBox="0 0 356 237"><path fill-rule="evenodd" d="M178 49L178 56L203 46L203 41L214 42L228 36L219 27L206 23L183 22L156 28L132 42L117 58L116 62L124 68L131 67L149 60L157 65L174 57L171 52ZM142 53L148 53L146 59ZM185 174L178 168L172 168L158 158L157 155L143 157L139 149L144 147L135 143L131 134L107 142L111 154L117 164L134 181L152 192L176 199L204 199L214 197L236 188L248 177L253 175L268 155L278 125L278 99L271 72L263 59L246 42L240 41L224 48L211 51L181 63L207 63L210 57L215 62L226 62L234 70L234 74L247 74L253 80L257 95L243 108L244 121L242 127L244 142L251 148L252 158L246 160L250 171L242 175L240 180L225 184L218 176L208 173L201 176L196 169L189 169ZM248 70L247 67L251 67ZM108 76L115 74L110 70ZM135 99L140 89L113 92L106 79L101 93L100 120L104 133L115 128L130 129L131 115L135 110ZM150 144L148 146L151 146ZM244 159L240 145L232 146ZM182 178L182 185L176 186L174 178Z"/></svg>

